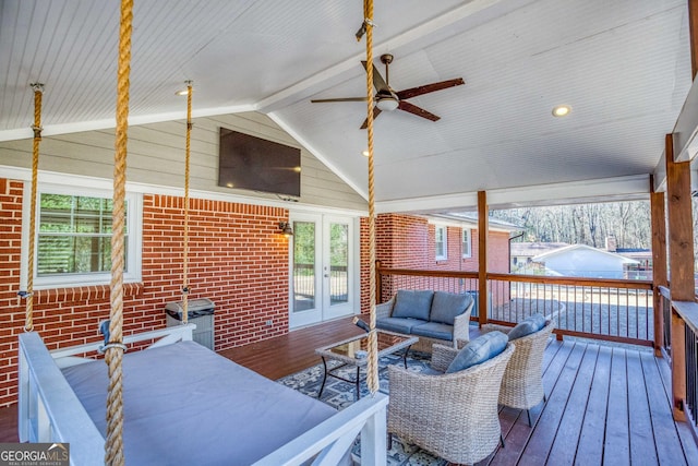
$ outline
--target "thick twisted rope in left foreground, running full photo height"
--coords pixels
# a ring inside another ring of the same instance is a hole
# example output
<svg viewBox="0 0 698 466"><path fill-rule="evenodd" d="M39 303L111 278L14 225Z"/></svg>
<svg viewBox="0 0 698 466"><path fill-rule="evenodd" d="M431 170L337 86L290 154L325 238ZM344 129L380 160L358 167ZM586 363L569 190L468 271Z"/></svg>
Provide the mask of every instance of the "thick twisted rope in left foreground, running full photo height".
<svg viewBox="0 0 698 466"><path fill-rule="evenodd" d="M129 129L129 74L131 72L131 32L133 0L121 1L121 26L119 29L119 69L117 81L117 128L113 164L113 207L111 214L111 312L110 343L105 345L105 360L109 368L109 392L107 396L107 439L105 464L123 465L123 384L121 360L123 359L123 267L124 223L127 182L127 141Z"/></svg>

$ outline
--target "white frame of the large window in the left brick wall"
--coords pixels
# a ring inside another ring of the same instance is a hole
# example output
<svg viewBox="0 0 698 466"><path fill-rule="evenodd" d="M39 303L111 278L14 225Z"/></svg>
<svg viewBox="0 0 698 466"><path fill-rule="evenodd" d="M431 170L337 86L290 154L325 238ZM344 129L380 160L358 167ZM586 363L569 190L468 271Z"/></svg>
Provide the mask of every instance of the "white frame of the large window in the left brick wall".
<svg viewBox="0 0 698 466"><path fill-rule="evenodd" d="M67 194L67 195L84 195L89 198L105 198L111 199L112 191L108 189L99 188L82 188L76 190L75 184L56 184L56 183L38 183L37 190L37 211L40 210L38 200L41 198L41 193L50 194ZM24 196L22 204L22 268L20 274L20 282L22 289L26 289L27 276L28 276L28 244L29 244L29 216L32 211L32 183L29 181L24 183ZM127 271L123 273L124 283L136 283L142 280L142 249L143 249L143 194L136 192L127 192L125 200L128 202L127 210L127 225L129 228L129 236L127 241ZM38 246L38 219L40 212L37 215L37 226L35 231L34 243ZM35 246L34 255L34 289L51 289L51 288L69 288L76 286L89 286L89 285L109 285L111 282L110 272L93 272L87 274L64 274L64 275L49 275L37 276L38 264L38 248Z"/></svg>

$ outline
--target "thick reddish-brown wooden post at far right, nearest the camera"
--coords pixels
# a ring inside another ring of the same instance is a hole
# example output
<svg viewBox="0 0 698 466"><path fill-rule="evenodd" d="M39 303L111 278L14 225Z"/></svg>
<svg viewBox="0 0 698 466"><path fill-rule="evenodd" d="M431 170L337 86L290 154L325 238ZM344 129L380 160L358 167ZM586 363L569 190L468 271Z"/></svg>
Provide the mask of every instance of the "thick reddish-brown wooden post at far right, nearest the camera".
<svg viewBox="0 0 698 466"><path fill-rule="evenodd" d="M674 139L665 139L669 218L669 278L672 301L695 301L690 163L674 162ZM684 321L672 310L672 397L674 419L685 420L686 342Z"/></svg>

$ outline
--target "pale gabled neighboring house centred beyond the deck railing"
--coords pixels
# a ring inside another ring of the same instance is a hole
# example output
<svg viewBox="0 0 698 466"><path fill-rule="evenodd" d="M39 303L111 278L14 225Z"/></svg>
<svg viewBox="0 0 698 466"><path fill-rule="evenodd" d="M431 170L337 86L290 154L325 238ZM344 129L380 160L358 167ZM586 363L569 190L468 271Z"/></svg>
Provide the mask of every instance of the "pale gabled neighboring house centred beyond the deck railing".
<svg viewBox="0 0 698 466"><path fill-rule="evenodd" d="M626 278L639 262L603 249L571 244L532 258L543 264L545 275L588 278Z"/></svg>

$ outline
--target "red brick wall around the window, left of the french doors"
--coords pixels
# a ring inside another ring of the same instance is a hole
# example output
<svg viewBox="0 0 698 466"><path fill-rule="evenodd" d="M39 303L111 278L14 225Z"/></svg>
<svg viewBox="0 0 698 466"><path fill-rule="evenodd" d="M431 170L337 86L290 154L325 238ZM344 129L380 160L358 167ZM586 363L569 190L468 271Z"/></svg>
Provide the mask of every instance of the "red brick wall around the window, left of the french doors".
<svg viewBox="0 0 698 466"><path fill-rule="evenodd" d="M16 399L22 182L0 179L0 406ZM165 304L181 299L183 199L143 200L143 280L124 287L124 333L165 326ZM278 223L288 211L192 199L190 299L216 303L215 345L224 349L288 332L288 240ZM109 287L38 290L34 323L49 349L99 340ZM273 325L266 326L267 320Z"/></svg>

